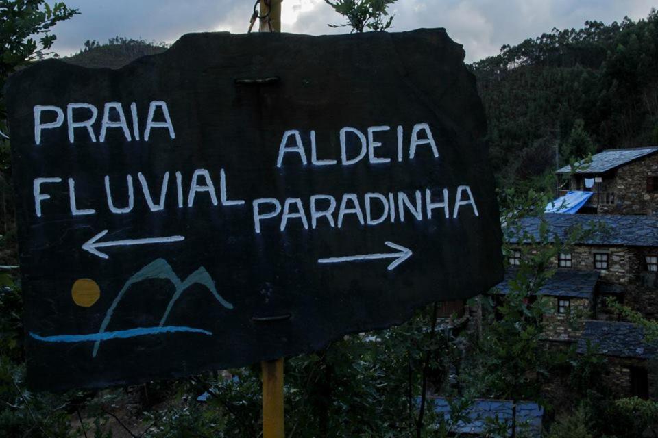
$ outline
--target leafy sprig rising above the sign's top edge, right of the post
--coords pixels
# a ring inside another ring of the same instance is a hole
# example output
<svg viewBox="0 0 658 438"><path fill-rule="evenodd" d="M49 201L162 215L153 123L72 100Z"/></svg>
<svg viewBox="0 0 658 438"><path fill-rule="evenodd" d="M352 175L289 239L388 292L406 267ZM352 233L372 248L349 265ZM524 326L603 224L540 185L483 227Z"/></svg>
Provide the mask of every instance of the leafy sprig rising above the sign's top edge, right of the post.
<svg viewBox="0 0 658 438"><path fill-rule="evenodd" d="M393 23L393 16L389 16L388 8L398 0L324 1L348 21L342 25L329 25L330 27L352 27L352 32L363 32L365 29L374 31L389 29Z"/></svg>

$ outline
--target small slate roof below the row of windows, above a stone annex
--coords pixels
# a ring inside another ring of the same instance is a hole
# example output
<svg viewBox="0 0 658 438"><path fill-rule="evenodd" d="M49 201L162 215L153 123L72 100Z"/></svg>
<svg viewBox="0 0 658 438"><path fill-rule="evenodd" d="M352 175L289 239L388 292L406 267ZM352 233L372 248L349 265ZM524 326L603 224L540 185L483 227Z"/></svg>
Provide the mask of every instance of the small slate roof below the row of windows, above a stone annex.
<svg viewBox="0 0 658 438"><path fill-rule="evenodd" d="M496 286L502 294L509 292L509 281L515 279L516 270L508 270L505 279ZM559 269L539 289L540 294L591 299L599 276L598 271Z"/></svg>

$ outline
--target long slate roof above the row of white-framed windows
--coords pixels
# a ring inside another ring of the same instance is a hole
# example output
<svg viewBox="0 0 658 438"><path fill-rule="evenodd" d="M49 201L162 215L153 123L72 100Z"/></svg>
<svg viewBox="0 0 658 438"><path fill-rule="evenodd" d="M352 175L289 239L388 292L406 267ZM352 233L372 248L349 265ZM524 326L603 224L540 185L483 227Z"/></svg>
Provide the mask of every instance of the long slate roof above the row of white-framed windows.
<svg viewBox="0 0 658 438"><path fill-rule="evenodd" d="M580 226L581 229L592 230L592 232L582 241L576 242L579 244L658 246L658 216L547 213L543 217L548 225L548 235L551 237L564 239L574 227ZM535 239L539 239L540 224L539 217L520 220L522 229L533 235ZM513 230L513 227L505 227L503 233L507 242L518 243Z"/></svg>

